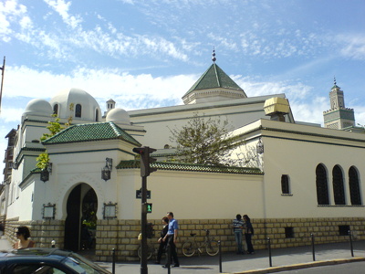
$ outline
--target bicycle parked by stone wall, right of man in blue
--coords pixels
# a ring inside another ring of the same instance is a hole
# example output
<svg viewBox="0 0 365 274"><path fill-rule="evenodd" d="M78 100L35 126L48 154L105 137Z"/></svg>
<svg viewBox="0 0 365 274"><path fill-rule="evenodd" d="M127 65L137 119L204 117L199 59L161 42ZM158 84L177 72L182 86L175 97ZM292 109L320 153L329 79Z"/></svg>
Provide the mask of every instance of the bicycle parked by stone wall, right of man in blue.
<svg viewBox="0 0 365 274"><path fill-rule="evenodd" d="M209 236L209 229L203 229L205 231L205 237L203 243L196 242L196 233L191 233L190 236L192 239L187 239L183 243L183 255L186 257L192 257L196 251L200 254L204 252L204 248L206 253L210 256L215 256L219 252L219 244L218 241L214 240L214 237Z"/></svg>

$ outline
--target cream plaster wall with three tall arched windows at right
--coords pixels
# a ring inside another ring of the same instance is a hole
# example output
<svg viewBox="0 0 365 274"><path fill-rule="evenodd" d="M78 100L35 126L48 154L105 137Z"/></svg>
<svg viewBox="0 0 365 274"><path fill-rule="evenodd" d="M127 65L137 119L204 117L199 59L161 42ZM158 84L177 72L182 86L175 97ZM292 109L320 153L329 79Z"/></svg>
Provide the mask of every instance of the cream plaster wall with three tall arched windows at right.
<svg viewBox="0 0 365 274"><path fill-rule="evenodd" d="M318 129L318 133L326 132ZM326 137L304 136L301 138L297 134L277 132L263 132L263 134L266 217L363 216L364 207L318 206L316 167L318 163L323 163L328 169L329 203L334 205L332 168L336 164L341 166L344 171L347 205L350 205L348 173L351 165L356 166L360 171L360 188L364 203L364 182L361 178L365 171L363 161L365 148L343 145L345 143L357 145L357 142L337 140L336 142L342 143L329 143L330 139ZM353 134L356 133L352 133L352 137L354 137ZM292 196L281 195L282 174L289 176Z"/></svg>

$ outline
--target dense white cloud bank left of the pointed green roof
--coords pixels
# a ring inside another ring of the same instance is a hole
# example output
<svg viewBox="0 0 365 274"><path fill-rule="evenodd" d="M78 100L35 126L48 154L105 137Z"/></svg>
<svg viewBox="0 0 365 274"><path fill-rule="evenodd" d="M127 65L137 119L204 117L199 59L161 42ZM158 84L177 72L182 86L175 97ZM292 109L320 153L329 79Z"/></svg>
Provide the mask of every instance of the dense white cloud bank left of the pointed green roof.
<svg viewBox="0 0 365 274"><path fill-rule="evenodd" d="M130 97L130 100L181 101L183 94L199 78L198 75L154 78L151 74L132 75L118 69L76 68L68 75L37 71L25 66L7 67L6 70L3 94L6 98L28 97L31 94L33 98L49 99L59 90L79 88L104 100L122 96L124 100Z"/></svg>

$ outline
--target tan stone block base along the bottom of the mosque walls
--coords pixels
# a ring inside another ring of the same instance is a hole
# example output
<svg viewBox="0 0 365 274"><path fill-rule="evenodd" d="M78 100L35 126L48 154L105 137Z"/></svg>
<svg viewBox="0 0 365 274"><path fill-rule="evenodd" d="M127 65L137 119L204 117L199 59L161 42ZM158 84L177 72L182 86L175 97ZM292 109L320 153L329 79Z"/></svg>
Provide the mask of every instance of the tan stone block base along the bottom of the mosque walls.
<svg viewBox="0 0 365 274"><path fill-rule="evenodd" d="M223 252L235 251L235 237L231 228L232 219L178 219L180 231L177 244L181 256L183 241L191 233L195 233L198 241L203 241L205 232L210 229L211 236L220 240ZM148 239L157 248L157 238L162 229L162 222L148 220L154 224L155 237ZM365 218L280 218L280 219L252 219L255 229L253 237L254 248L266 249L267 238L270 238L271 248L288 248L311 245L311 234L316 244L345 242L349 240L347 229L356 239L365 239ZM64 246L64 221L44 220L19 222L17 219L7 219L5 235L15 242L15 228L28 226L36 247L50 248L51 241L56 241L57 248ZM137 260L137 250L141 242L137 239L141 232L140 220L98 220L96 231L95 259L111 261L112 250L115 248L117 261Z"/></svg>

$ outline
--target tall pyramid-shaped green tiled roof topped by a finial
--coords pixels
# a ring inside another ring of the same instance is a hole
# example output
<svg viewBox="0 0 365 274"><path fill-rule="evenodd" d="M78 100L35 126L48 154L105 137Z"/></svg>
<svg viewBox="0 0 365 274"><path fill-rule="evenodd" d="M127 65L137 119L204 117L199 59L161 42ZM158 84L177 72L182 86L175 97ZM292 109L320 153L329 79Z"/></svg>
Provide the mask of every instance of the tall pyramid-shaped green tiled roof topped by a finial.
<svg viewBox="0 0 365 274"><path fill-rule="evenodd" d="M193 87L186 92L184 96L193 90L208 90L214 88L224 88L230 90L242 90L233 79L231 79L222 68L219 68L215 63L208 68L200 79L198 79ZM242 92L245 92L242 90Z"/></svg>

